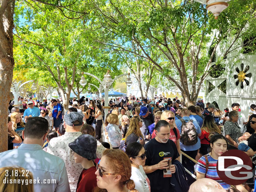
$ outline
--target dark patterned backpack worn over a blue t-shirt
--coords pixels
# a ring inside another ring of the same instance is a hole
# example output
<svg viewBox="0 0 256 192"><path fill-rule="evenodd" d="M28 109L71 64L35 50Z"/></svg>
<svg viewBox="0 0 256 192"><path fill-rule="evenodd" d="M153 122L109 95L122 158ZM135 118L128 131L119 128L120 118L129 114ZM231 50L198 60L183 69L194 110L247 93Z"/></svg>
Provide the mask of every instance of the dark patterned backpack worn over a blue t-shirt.
<svg viewBox="0 0 256 192"><path fill-rule="evenodd" d="M184 145L195 145L198 141L198 135L196 132L196 128L193 124L193 120L179 120L182 122L180 142Z"/></svg>

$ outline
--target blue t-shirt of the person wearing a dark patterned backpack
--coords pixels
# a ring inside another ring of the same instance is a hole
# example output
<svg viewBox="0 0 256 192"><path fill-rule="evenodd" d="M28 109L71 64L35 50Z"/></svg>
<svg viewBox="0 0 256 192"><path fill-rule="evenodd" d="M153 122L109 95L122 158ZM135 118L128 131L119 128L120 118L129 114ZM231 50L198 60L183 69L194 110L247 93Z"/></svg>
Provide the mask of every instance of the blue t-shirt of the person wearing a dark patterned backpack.
<svg viewBox="0 0 256 192"><path fill-rule="evenodd" d="M182 119L184 119L185 121L190 120L189 117L183 117ZM180 131L180 135L181 135L182 122L180 121L180 119L178 119L178 120L175 121L175 123L176 123L177 128ZM201 129L200 129L198 123L195 120L193 120L193 124L196 128L197 134L200 134ZM184 145L183 143L180 142L180 149L185 150L185 151L198 150L200 147L201 147L201 142L200 142L199 138L198 138L197 143L195 145Z"/></svg>

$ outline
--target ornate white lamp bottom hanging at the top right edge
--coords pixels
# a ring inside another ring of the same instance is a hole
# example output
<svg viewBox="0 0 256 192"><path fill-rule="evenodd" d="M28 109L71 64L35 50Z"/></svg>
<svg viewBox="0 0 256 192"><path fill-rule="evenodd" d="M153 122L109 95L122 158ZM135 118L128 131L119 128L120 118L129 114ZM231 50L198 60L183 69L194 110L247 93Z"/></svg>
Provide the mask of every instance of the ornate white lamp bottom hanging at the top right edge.
<svg viewBox="0 0 256 192"><path fill-rule="evenodd" d="M230 0L196 0L199 3L205 4L206 9L212 12L215 19L219 14L228 7L228 1Z"/></svg>

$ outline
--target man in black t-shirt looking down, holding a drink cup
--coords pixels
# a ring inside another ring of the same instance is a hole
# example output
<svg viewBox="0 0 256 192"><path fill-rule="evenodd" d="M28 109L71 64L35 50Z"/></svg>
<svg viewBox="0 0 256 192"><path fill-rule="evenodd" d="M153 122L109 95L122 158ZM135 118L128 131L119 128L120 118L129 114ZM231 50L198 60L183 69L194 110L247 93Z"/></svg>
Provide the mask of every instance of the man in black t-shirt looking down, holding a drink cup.
<svg viewBox="0 0 256 192"><path fill-rule="evenodd" d="M143 167L150 180L152 192L170 192L172 185L171 177L164 177L164 170L168 169L168 159L178 160L180 156L175 143L170 138L170 125L165 120L160 120L155 126L156 137L145 145L146 163ZM171 165L172 174L175 173L175 166Z"/></svg>

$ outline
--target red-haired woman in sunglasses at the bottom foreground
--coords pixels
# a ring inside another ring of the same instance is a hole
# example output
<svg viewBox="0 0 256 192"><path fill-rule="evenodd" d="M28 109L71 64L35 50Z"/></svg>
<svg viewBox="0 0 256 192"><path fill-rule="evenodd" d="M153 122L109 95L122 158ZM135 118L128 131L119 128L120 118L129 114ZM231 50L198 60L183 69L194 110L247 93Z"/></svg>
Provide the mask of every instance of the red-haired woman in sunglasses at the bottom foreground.
<svg viewBox="0 0 256 192"><path fill-rule="evenodd" d="M131 163L122 150L107 149L97 164L94 192L138 192L131 180Z"/></svg>

